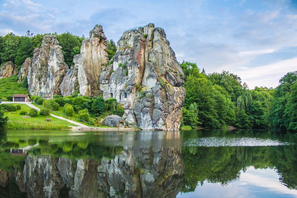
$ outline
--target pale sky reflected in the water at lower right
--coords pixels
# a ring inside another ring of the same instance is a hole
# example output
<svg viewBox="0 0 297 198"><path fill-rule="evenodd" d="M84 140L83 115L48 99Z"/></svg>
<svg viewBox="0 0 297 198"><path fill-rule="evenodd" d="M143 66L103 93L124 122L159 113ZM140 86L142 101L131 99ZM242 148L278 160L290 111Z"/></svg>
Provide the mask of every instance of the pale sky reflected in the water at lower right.
<svg viewBox="0 0 297 198"><path fill-rule="evenodd" d="M225 186L205 181L194 192L179 193L176 197L297 197L297 190L288 189L276 170L249 167Z"/></svg>

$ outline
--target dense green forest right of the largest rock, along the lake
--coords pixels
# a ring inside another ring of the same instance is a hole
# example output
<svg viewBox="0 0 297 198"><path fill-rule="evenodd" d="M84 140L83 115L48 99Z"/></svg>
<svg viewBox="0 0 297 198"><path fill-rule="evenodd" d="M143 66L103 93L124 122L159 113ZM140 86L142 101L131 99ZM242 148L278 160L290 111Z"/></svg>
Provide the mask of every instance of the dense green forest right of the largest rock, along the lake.
<svg viewBox="0 0 297 198"><path fill-rule="evenodd" d="M206 74L195 63L180 64L185 74L183 125L188 128L280 129L297 131L297 72L288 72L275 89L241 85L230 72ZM186 128L186 127L185 127Z"/></svg>

